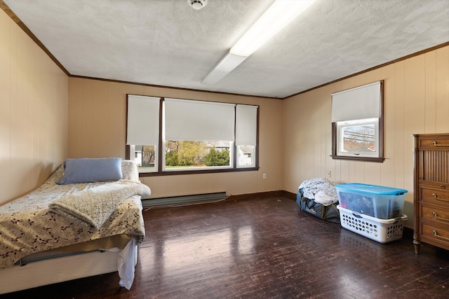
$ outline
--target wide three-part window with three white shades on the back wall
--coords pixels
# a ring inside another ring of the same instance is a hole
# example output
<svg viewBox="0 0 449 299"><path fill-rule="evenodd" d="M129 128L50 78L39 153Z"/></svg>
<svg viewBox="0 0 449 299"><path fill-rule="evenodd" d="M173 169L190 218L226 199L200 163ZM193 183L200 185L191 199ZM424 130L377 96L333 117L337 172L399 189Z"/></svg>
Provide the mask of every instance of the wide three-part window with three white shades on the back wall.
<svg viewBox="0 0 449 299"><path fill-rule="evenodd" d="M257 118L258 106L128 95L127 158L149 174L256 168Z"/></svg>

